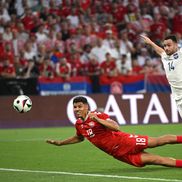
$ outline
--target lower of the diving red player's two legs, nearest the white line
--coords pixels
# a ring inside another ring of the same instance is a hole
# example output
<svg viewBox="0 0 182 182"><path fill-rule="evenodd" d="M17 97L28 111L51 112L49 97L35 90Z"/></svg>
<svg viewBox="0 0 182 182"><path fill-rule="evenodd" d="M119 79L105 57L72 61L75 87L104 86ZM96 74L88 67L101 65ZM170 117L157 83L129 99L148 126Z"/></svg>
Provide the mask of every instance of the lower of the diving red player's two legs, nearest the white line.
<svg viewBox="0 0 182 182"><path fill-rule="evenodd" d="M162 157L150 153L142 153L141 161L145 165L162 165L167 167L182 168L182 160L174 159L171 157Z"/></svg>

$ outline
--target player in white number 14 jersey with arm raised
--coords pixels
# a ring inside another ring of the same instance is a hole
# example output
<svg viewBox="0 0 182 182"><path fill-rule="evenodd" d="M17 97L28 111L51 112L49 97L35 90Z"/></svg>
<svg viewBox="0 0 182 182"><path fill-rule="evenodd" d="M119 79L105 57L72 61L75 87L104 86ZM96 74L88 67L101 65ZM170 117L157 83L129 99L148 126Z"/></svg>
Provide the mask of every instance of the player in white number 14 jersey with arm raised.
<svg viewBox="0 0 182 182"><path fill-rule="evenodd" d="M159 47L145 35L141 35L141 37L146 44L152 46L156 53L161 56L173 98L182 118L182 48L178 48L176 36L167 36L163 41L164 48Z"/></svg>

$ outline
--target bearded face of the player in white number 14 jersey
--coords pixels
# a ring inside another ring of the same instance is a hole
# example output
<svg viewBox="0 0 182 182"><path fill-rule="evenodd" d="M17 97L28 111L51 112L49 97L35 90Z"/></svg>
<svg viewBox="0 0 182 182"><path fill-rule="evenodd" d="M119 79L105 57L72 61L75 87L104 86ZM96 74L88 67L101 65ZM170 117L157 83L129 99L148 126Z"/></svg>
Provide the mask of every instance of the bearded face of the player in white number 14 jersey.
<svg viewBox="0 0 182 182"><path fill-rule="evenodd" d="M173 42L171 39L164 40L163 46L167 55L174 54L178 49L178 44Z"/></svg>

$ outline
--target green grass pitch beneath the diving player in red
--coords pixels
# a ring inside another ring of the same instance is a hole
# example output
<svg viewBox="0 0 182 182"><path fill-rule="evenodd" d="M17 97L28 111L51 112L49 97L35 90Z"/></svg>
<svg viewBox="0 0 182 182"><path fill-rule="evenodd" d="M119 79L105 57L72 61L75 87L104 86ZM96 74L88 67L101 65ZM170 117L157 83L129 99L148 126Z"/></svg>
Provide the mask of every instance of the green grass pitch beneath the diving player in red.
<svg viewBox="0 0 182 182"><path fill-rule="evenodd" d="M122 126L121 129L125 132L149 136L169 133L182 135L181 124ZM4 171L1 169L0 181L174 182L176 180L182 182L182 169L160 166L135 168L113 159L86 140L79 144L62 147L45 143L46 139L64 139L74 134L73 127L0 130L0 168L30 170L27 172ZM147 151L182 159L182 145L162 146ZM71 174L41 173L39 171L70 172ZM75 173L83 174L79 176ZM93 174L93 176L84 176L84 174ZM95 176L95 174L107 176ZM116 176L121 176L121 179L116 178ZM126 178L122 179L124 177ZM130 177L139 178L129 179Z"/></svg>

